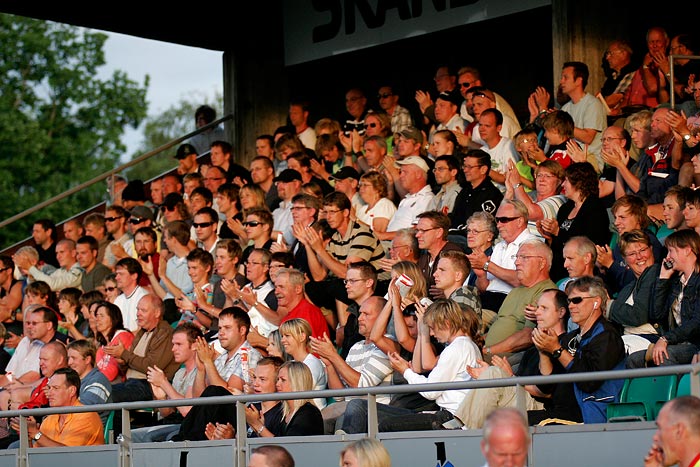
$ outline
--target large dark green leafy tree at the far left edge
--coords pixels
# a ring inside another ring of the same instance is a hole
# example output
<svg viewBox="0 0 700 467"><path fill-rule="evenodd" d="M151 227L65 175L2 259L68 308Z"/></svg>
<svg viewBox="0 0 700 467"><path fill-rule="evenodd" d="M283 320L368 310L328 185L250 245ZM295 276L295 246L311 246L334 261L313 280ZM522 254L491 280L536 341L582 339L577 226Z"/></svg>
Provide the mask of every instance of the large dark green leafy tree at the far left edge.
<svg viewBox="0 0 700 467"><path fill-rule="evenodd" d="M113 169L127 125L146 117L146 90L105 64L105 34L0 14L0 219ZM34 219L62 221L105 198L98 183L0 230L0 247Z"/></svg>

